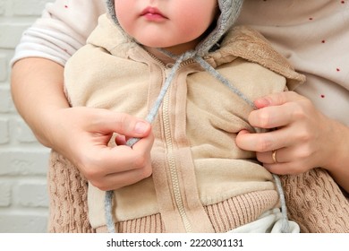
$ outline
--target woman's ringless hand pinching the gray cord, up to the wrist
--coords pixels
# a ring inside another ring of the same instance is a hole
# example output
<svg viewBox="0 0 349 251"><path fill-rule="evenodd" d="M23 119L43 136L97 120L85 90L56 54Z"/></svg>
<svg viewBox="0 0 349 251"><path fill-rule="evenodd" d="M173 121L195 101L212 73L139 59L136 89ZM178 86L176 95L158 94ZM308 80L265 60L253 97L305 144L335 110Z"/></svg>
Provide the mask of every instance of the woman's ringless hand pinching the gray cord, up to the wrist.
<svg viewBox="0 0 349 251"><path fill-rule="evenodd" d="M55 127L49 139L81 171L93 186L112 190L128 186L152 173L150 150L154 142L150 125L142 119L98 108L62 108L53 115ZM123 145L113 133L140 137L133 147Z"/></svg>

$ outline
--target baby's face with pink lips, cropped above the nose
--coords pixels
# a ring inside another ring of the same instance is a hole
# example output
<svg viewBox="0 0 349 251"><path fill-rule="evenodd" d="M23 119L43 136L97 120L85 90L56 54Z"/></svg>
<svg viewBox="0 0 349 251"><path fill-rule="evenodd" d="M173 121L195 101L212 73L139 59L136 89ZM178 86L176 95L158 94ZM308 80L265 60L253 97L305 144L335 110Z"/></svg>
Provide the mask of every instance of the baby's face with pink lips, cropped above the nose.
<svg viewBox="0 0 349 251"><path fill-rule="evenodd" d="M174 54L196 47L217 10L217 0L115 0L123 30L146 47Z"/></svg>

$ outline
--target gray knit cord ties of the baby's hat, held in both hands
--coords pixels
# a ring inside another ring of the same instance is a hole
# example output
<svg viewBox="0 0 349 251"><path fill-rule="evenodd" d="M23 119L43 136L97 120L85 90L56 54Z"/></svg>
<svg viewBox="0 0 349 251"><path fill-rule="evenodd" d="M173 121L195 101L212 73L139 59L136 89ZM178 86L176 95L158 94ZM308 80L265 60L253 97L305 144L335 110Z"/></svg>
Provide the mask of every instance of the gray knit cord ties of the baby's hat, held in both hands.
<svg viewBox="0 0 349 251"><path fill-rule="evenodd" d="M201 56L198 56L195 51L187 51L182 56L179 56L176 58L176 56L170 54L169 52L166 52L163 49L160 49L163 53L165 53L167 56L171 56L176 59L175 64L173 68L171 69L170 74L167 76L165 83L163 87L161 88L161 91L159 95L157 96L157 100L155 101L153 107L150 109L148 116L146 117L146 121L149 123L152 123L157 116L157 111L160 108L162 101L164 100L164 97L166 95L166 91L168 90L171 82L174 79L175 72L179 69L180 65L183 61L193 58L195 61L197 61L202 68L204 68L209 74L212 74L219 82L222 82L225 84L231 91L233 91L237 96L239 96L242 100L244 100L248 105L250 105L253 109L256 109L254 103L249 100L242 91L239 91L237 88L235 88L222 74L219 74L215 68L213 68L211 65L209 65L208 62L206 62ZM127 141L127 145L132 147L133 144L137 143L140 139L139 138L131 138ZM285 195L284 190L281 185L280 178L273 174L273 177L275 179L276 185L277 185L277 192L280 197L280 203L281 203L281 213L282 213L282 233L289 232L289 222L287 217L287 207L285 203ZM106 210L106 227L110 233L115 233L115 221L113 220L113 191L106 191L105 196L105 210Z"/></svg>

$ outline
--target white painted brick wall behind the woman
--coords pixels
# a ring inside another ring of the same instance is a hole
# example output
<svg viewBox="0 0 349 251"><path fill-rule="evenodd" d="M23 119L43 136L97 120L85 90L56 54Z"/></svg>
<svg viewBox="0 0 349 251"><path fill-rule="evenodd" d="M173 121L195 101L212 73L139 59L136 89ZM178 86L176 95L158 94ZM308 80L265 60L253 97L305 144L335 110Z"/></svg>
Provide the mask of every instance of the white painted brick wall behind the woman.
<svg viewBox="0 0 349 251"><path fill-rule="evenodd" d="M47 160L16 113L9 61L25 30L54 0L0 0L0 233L46 232Z"/></svg>

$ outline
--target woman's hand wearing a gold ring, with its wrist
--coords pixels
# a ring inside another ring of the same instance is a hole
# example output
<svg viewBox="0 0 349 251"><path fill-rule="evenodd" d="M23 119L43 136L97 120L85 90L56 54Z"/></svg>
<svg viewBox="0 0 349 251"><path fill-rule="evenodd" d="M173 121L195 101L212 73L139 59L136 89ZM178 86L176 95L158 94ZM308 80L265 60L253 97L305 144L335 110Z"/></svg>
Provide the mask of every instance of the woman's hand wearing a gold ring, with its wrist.
<svg viewBox="0 0 349 251"><path fill-rule="evenodd" d="M293 92L275 93L255 100L251 125L275 129L268 133L237 135L237 145L256 151L264 167L276 174L299 174L328 169L349 190L349 128L325 117L310 100ZM274 158L273 158L274 155Z"/></svg>

